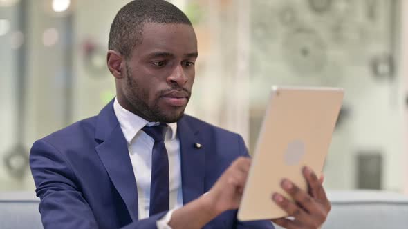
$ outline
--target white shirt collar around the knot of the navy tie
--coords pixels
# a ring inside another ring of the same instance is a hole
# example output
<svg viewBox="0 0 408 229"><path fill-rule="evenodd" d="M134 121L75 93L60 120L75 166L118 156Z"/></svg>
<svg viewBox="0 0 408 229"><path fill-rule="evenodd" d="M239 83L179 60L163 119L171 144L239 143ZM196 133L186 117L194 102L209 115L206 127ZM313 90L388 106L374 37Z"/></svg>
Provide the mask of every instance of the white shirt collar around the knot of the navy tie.
<svg viewBox="0 0 408 229"><path fill-rule="evenodd" d="M115 110L115 115L118 118L120 128L122 128L124 138L129 144L144 126L156 126L159 124L158 122L149 122L142 117L133 114L129 110L124 109L119 104L117 98L115 98L115 101L113 102L113 110ZM169 132L167 132L166 137L169 135L171 140L175 139L177 123L167 123L167 126L170 127L170 135Z"/></svg>

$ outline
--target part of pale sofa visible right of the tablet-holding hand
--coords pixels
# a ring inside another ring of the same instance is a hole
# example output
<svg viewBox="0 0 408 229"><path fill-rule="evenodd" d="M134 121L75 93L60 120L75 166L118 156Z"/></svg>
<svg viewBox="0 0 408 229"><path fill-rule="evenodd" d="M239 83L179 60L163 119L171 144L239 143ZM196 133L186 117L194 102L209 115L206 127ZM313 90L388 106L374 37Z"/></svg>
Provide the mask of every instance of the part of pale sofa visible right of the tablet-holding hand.
<svg viewBox="0 0 408 229"><path fill-rule="evenodd" d="M408 196L375 190L328 191L323 229L407 229ZM276 227L279 228L280 227Z"/></svg>

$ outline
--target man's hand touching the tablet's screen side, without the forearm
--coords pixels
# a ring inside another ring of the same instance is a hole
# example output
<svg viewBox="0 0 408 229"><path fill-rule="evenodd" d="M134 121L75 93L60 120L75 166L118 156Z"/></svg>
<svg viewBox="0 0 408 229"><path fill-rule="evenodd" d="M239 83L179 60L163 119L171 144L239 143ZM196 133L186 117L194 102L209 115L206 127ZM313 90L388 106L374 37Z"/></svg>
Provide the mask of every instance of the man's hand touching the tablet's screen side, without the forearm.
<svg viewBox="0 0 408 229"><path fill-rule="evenodd" d="M241 202L251 159L239 157L223 172L207 196L214 203L214 211L221 214L225 210L237 209Z"/></svg>

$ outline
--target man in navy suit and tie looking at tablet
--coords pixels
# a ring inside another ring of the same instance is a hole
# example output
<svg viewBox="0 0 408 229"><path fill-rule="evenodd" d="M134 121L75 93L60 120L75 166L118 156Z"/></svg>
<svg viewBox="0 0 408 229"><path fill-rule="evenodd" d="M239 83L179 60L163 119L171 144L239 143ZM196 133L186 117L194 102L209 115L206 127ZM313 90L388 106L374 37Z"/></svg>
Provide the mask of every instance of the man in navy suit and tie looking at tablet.
<svg viewBox="0 0 408 229"><path fill-rule="evenodd" d="M116 15L107 65L117 97L99 115L36 141L30 166L44 228L273 228L237 221L250 159L243 139L184 115L198 57L189 19L163 0ZM330 203L305 168L297 204L271 193L286 228L317 228ZM267 180L266 180L267 182Z"/></svg>

